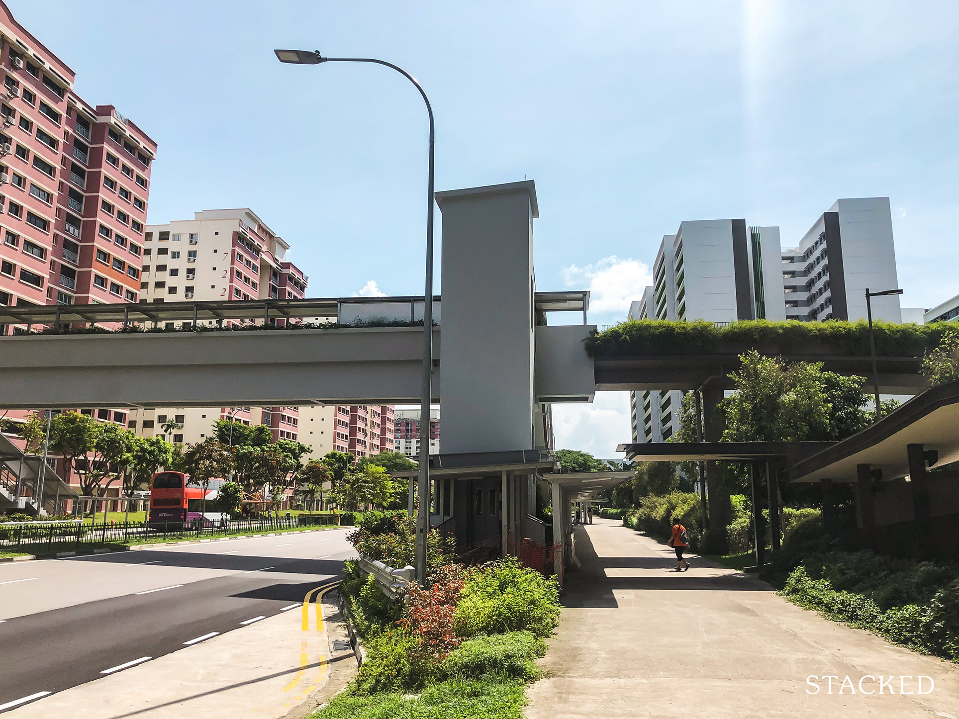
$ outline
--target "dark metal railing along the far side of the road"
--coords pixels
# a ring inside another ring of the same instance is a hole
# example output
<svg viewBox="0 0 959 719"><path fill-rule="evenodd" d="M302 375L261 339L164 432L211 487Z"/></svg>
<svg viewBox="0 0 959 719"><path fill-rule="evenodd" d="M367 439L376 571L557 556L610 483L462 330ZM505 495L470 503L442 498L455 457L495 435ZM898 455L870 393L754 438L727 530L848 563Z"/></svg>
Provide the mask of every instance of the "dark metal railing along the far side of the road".
<svg viewBox="0 0 959 719"><path fill-rule="evenodd" d="M283 520L223 520L221 522L60 522L0 523L0 547L32 551L68 550L70 545L125 545L132 539L190 540L233 534L259 534L276 529L335 524L334 515L299 515Z"/></svg>

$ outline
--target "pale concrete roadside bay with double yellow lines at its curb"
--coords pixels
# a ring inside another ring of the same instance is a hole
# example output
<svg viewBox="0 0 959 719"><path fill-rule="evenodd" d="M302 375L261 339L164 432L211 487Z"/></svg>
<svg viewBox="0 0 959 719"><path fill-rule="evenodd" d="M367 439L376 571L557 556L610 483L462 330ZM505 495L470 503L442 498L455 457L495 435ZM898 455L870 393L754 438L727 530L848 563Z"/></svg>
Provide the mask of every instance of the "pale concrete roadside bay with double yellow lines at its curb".
<svg viewBox="0 0 959 719"><path fill-rule="evenodd" d="M313 593L313 592L311 592ZM314 594L316 596L316 594ZM13 709L12 719L301 719L356 674L335 591Z"/></svg>

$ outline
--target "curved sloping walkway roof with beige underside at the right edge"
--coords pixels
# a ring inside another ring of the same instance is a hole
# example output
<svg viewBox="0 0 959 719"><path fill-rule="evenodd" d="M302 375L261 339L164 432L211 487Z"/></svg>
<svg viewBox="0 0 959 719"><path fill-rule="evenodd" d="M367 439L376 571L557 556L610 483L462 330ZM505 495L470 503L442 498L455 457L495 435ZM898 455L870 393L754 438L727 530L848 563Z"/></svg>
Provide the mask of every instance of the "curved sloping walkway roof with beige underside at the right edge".
<svg viewBox="0 0 959 719"><path fill-rule="evenodd" d="M938 464L959 460L959 382L925 390L875 425L789 468L793 482L855 482L856 465L881 469L883 479L909 474L906 445L939 452Z"/></svg>

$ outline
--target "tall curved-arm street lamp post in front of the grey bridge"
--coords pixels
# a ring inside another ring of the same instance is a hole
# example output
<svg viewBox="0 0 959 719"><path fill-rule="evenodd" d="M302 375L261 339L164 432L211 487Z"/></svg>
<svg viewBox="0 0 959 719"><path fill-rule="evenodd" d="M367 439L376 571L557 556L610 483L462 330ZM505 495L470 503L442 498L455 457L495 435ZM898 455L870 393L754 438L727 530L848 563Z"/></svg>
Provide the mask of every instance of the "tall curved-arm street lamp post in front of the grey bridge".
<svg viewBox="0 0 959 719"><path fill-rule="evenodd" d="M433 106L423 86L406 70L386 60L374 58L324 58L319 51L310 50L274 50L280 62L294 65L318 65L320 62L372 62L385 65L415 85L426 103L430 116L430 161L427 180L426 215L426 290L423 293L423 381L420 393L420 429L430 426L430 406L433 401L431 383L433 381L433 146L435 144L435 126L433 124ZM429 431L429 430L428 430ZM421 432L422 433L422 432ZM430 442L420 437L419 452L419 511L416 515L416 581L426 584L427 535L430 532Z"/></svg>

